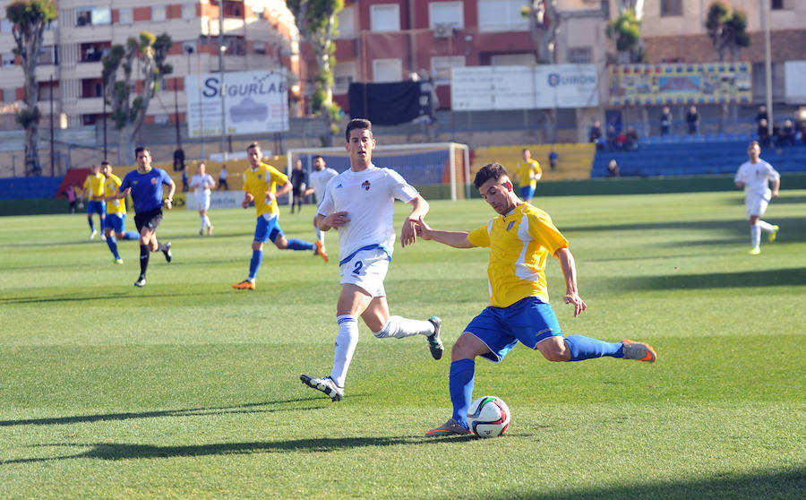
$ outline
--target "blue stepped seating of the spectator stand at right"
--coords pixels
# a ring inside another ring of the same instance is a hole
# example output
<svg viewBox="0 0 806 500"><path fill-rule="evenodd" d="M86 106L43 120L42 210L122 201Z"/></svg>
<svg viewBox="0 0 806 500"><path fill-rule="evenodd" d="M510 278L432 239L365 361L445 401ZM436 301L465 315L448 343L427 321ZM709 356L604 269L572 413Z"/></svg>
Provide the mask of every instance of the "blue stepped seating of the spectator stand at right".
<svg viewBox="0 0 806 500"><path fill-rule="evenodd" d="M734 134L697 136L699 140L671 136L663 142L641 142L638 151L597 151L590 177L607 177L607 164L615 159L621 177L672 177L733 174L747 161L750 139ZM806 147L768 148L761 158L779 172L806 170Z"/></svg>

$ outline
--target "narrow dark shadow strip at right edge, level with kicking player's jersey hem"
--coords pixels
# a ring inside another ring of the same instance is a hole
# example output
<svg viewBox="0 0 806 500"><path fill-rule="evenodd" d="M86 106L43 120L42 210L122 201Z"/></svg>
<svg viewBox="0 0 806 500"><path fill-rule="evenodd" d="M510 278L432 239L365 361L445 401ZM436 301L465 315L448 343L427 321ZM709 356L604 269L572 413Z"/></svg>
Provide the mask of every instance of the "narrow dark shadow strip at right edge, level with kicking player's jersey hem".
<svg viewBox="0 0 806 500"><path fill-rule="evenodd" d="M791 287L806 283L806 268L748 272L708 272L669 276L642 276L604 280L613 289L683 290Z"/></svg>

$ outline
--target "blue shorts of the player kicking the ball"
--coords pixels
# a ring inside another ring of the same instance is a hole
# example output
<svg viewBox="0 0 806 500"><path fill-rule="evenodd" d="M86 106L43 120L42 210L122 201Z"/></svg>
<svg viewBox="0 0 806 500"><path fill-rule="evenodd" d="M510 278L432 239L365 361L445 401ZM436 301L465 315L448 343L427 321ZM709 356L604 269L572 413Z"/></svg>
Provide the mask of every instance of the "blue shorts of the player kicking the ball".
<svg viewBox="0 0 806 500"><path fill-rule="evenodd" d="M502 361L518 342L535 349L540 341L562 337L552 306L537 297L521 298L508 307L484 307L465 332L484 342L491 352L482 356L495 363Z"/></svg>

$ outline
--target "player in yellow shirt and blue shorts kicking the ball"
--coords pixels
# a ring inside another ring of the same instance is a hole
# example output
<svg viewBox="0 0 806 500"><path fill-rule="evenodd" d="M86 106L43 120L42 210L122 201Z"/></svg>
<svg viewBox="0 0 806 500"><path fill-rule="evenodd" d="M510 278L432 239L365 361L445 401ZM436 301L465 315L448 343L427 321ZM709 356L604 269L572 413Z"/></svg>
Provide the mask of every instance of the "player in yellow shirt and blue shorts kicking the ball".
<svg viewBox="0 0 806 500"><path fill-rule="evenodd" d="M487 278L490 306L484 308L459 335L450 356L449 390L453 415L426 436L467 435L467 409L473 401L476 357L500 362L518 342L539 350L549 361L583 359L639 359L654 363L656 353L643 342L605 342L570 335L563 337L560 323L549 305L545 263L549 255L560 261L565 277L566 304L579 315L587 306L577 291L577 270L568 240L549 215L522 202L515 194L507 171L499 163L481 168L474 181L479 193L499 217L473 231L443 231L423 220L417 234L456 248L490 248Z"/></svg>

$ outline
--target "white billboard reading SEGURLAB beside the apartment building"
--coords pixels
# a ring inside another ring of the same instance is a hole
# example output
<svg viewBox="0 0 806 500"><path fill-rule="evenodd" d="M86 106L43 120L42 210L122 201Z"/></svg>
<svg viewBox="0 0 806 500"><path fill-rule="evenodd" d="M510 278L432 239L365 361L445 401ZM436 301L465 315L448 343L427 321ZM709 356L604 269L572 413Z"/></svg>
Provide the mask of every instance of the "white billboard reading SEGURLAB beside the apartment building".
<svg viewBox="0 0 806 500"><path fill-rule="evenodd" d="M226 135L288 130L284 69L224 73L223 84L221 73L188 74L184 77L184 89L191 137L221 135L222 108Z"/></svg>

